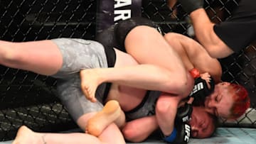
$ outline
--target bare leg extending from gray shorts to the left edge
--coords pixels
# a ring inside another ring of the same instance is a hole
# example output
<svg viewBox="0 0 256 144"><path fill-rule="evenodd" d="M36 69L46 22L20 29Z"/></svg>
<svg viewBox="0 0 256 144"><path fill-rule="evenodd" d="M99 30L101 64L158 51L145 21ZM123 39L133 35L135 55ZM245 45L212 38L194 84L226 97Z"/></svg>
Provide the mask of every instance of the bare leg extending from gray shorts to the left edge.
<svg viewBox="0 0 256 144"><path fill-rule="evenodd" d="M63 57L52 40L13 43L0 41L0 64L38 74L55 74Z"/></svg>

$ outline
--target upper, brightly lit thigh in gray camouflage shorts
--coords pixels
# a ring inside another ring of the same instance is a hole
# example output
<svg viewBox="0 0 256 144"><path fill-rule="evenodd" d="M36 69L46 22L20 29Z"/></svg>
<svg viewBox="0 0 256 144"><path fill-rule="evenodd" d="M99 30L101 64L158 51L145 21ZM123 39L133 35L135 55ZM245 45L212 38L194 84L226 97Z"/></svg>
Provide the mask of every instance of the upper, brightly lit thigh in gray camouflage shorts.
<svg viewBox="0 0 256 144"><path fill-rule="evenodd" d="M107 67L105 50L96 41L70 38L58 38L53 41L63 55L62 67L52 75L53 77L65 78L80 70Z"/></svg>

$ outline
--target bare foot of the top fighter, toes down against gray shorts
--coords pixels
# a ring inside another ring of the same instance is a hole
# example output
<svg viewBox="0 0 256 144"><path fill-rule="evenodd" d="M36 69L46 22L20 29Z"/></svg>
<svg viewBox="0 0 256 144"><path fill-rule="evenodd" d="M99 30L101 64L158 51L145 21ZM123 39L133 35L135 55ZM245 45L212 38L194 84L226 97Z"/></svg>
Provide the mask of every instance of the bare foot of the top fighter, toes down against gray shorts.
<svg viewBox="0 0 256 144"><path fill-rule="evenodd" d="M80 71L81 88L85 97L92 102L96 102L95 92L97 87L102 83L98 69L87 69Z"/></svg>

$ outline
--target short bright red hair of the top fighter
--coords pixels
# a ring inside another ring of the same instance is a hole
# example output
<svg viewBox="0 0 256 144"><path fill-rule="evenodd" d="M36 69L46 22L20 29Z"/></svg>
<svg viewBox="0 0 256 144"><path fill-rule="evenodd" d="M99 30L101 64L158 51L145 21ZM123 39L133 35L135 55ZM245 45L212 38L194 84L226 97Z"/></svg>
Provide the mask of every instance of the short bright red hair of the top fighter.
<svg viewBox="0 0 256 144"><path fill-rule="evenodd" d="M236 119L242 116L245 111L250 107L250 97L245 87L240 84L230 84L230 88L233 91L233 106L230 109L230 118Z"/></svg>

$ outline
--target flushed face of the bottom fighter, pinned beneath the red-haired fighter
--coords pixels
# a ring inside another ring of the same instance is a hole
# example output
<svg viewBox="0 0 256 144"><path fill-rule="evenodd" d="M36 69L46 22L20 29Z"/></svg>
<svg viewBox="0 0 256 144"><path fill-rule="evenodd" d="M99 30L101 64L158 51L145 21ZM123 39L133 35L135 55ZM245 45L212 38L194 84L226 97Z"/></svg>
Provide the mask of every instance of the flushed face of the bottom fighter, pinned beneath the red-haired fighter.
<svg viewBox="0 0 256 144"><path fill-rule="evenodd" d="M193 106L193 111L191 115L191 125L192 137L193 138L208 138L213 134L215 130L214 120L210 117L203 107Z"/></svg>

